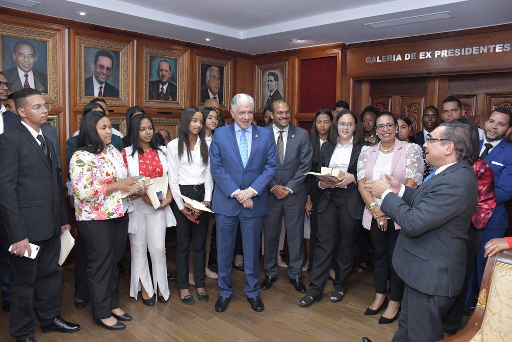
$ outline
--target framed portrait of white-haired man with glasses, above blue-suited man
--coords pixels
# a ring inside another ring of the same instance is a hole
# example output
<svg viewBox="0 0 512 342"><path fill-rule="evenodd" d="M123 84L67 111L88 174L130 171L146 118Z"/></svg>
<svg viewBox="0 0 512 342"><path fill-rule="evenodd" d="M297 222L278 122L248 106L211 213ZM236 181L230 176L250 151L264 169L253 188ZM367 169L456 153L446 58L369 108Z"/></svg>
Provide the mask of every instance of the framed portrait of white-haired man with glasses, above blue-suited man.
<svg viewBox="0 0 512 342"><path fill-rule="evenodd" d="M196 56L196 103L215 98L221 108L228 109L231 100L231 60Z"/></svg>

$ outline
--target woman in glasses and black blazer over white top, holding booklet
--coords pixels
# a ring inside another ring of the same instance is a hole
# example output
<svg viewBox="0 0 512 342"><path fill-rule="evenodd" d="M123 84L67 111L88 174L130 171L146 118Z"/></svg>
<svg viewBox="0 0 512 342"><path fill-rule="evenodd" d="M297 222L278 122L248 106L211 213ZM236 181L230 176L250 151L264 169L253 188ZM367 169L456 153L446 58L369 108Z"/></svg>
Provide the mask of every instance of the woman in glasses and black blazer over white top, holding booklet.
<svg viewBox="0 0 512 342"><path fill-rule="evenodd" d="M303 307L322 298L334 255L337 267L329 300L335 303L343 299L365 207L356 183L357 158L361 148L369 143L362 137L357 115L350 110L340 111L331 125L329 139L322 146L318 160L318 172L323 167L333 168L337 170L330 173L339 177L337 181L330 176L314 182L321 191L317 205L318 232L311 283L307 294L298 302Z"/></svg>

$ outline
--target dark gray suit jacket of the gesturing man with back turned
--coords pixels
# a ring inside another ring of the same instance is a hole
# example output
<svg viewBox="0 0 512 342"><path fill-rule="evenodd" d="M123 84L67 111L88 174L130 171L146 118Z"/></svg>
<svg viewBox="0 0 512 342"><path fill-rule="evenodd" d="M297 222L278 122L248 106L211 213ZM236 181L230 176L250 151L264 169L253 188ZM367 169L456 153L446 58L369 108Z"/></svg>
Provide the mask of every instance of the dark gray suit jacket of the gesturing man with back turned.
<svg viewBox="0 0 512 342"><path fill-rule="evenodd" d="M408 286L434 296L462 292L477 197L475 171L462 160L417 190L406 187L401 199L393 193L384 198L380 209L402 227L393 267Z"/></svg>

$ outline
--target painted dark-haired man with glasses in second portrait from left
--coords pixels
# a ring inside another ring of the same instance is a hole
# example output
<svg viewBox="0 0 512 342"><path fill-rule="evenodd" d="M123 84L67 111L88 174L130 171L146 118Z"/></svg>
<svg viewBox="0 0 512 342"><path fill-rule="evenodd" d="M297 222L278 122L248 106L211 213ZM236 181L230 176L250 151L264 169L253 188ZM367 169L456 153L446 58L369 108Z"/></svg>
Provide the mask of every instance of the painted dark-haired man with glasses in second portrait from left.
<svg viewBox="0 0 512 342"><path fill-rule="evenodd" d="M94 55L93 75L84 80L86 96L119 97L119 89L107 83L112 75L114 57L108 51L100 50Z"/></svg>

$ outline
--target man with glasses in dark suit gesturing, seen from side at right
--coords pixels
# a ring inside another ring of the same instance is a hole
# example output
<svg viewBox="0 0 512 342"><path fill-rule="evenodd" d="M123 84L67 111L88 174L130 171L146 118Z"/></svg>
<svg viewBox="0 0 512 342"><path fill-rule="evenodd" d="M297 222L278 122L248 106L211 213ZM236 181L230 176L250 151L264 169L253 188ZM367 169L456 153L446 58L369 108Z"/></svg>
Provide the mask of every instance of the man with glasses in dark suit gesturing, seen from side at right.
<svg viewBox="0 0 512 342"><path fill-rule="evenodd" d="M417 190L388 175L365 185L383 198L382 212L402 227L393 267L406 287L395 342L442 339L444 317L463 290L467 229L478 196L471 165L476 136L459 122L432 131L425 143L426 160L436 172Z"/></svg>

